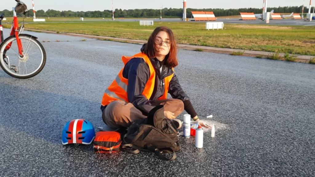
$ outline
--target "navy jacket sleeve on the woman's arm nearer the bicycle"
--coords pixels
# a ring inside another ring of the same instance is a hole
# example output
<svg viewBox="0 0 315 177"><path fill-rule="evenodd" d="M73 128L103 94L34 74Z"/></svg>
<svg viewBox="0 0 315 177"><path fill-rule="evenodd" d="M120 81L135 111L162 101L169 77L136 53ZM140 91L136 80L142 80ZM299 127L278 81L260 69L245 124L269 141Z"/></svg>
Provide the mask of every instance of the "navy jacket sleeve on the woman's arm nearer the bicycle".
<svg viewBox="0 0 315 177"><path fill-rule="evenodd" d="M142 58L132 59L128 68L128 100L144 115L147 115L154 106L142 95L146 83L150 77L149 66Z"/></svg>

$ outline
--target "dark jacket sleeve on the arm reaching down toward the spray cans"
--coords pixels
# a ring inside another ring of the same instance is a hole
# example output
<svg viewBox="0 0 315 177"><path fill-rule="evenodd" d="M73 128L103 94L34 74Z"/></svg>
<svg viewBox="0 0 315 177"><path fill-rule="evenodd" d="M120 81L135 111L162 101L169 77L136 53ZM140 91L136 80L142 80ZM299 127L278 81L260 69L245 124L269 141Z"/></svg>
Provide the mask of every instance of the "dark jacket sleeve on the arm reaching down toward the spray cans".
<svg viewBox="0 0 315 177"><path fill-rule="evenodd" d="M172 98L179 99L182 101L190 100L184 90L181 88L177 76L174 74L171 81L169 82L169 94Z"/></svg>

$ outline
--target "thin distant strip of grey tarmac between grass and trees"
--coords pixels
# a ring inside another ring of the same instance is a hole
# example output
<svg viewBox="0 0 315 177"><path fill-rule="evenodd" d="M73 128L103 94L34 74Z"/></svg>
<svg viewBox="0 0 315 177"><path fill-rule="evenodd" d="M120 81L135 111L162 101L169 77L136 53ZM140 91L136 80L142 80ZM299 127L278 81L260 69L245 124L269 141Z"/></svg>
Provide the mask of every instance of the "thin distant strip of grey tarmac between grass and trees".
<svg viewBox="0 0 315 177"><path fill-rule="evenodd" d="M206 23L206 22L223 22L224 24L252 24L252 25L293 25L293 26L315 26L315 20L304 21L303 19L282 19L282 20L270 20L269 23L260 20L238 20L238 19L217 19L216 21L182 21L181 19L115 19L115 21L128 21L139 22L140 20L150 20L153 22L183 22L183 23ZM112 20L73 20L67 22L28 22L28 23L77 23L77 22L106 22Z"/></svg>

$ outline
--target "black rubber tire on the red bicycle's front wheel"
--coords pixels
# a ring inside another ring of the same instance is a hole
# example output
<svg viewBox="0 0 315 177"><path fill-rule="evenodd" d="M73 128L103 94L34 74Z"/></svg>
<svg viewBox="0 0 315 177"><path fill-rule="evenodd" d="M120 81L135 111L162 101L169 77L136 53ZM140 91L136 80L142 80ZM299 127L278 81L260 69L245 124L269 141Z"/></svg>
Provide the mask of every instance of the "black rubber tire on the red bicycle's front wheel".
<svg viewBox="0 0 315 177"><path fill-rule="evenodd" d="M43 52L43 62L42 62L42 64L40 65L40 67L39 67L33 74L26 75L26 76L20 76L20 75L18 75L18 74L13 74L12 72L10 72L10 71L8 70L7 67L3 66L3 62L2 62L2 61L3 61L4 59L3 59L3 54L1 53L1 51L3 50L4 47L6 47L5 44L7 43L7 41L11 40L12 38L15 38L15 36L10 36L10 37L6 38L6 39L2 42L2 44L0 45L0 66L1 66L1 68L3 69L4 72L6 72L7 74L9 74L9 75L12 76L12 77L15 77L15 78L18 78L18 79L28 79L28 78L31 78L31 77L36 76L37 74L39 74L39 73L43 70L43 68L44 68L44 66L45 66L45 64L46 64L46 51L45 51L43 45L42 45L37 39L32 38L32 37L30 37L30 36L28 36L28 35L24 35L24 34L20 34L19 37L29 38L29 39L35 41L35 42L38 44L38 46L40 47L40 49L41 49L42 52ZM16 38L15 38L15 40L16 40Z"/></svg>

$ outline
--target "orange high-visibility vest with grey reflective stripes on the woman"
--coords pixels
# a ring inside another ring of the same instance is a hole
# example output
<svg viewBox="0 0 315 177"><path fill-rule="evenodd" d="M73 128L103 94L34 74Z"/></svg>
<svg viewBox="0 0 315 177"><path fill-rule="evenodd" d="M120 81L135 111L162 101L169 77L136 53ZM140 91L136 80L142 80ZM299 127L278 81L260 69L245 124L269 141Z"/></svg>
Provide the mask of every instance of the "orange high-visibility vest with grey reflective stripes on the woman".
<svg viewBox="0 0 315 177"><path fill-rule="evenodd" d="M146 86L142 92L142 95L144 95L148 100L151 98L151 95L153 93L153 88L154 88L154 83L155 83L155 68L152 65L149 57L146 54L143 53L138 53L135 54L132 57L122 57L122 61L124 63L124 66L126 63L133 59L133 58L143 58L146 64L149 66L150 70L150 77L146 83ZM172 68L173 74L171 74L168 77L164 78L164 93L161 97L158 98L158 100L165 100L167 99L167 94L169 91L169 82L173 78L174 75L174 68ZM127 93L127 88L128 88L128 79L123 77L123 69L120 70L118 73L116 79L112 82L112 84L105 90L103 99L102 99L102 106L106 106L110 104L113 101L116 100L122 100L127 103L128 101L128 93Z"/></svg>

